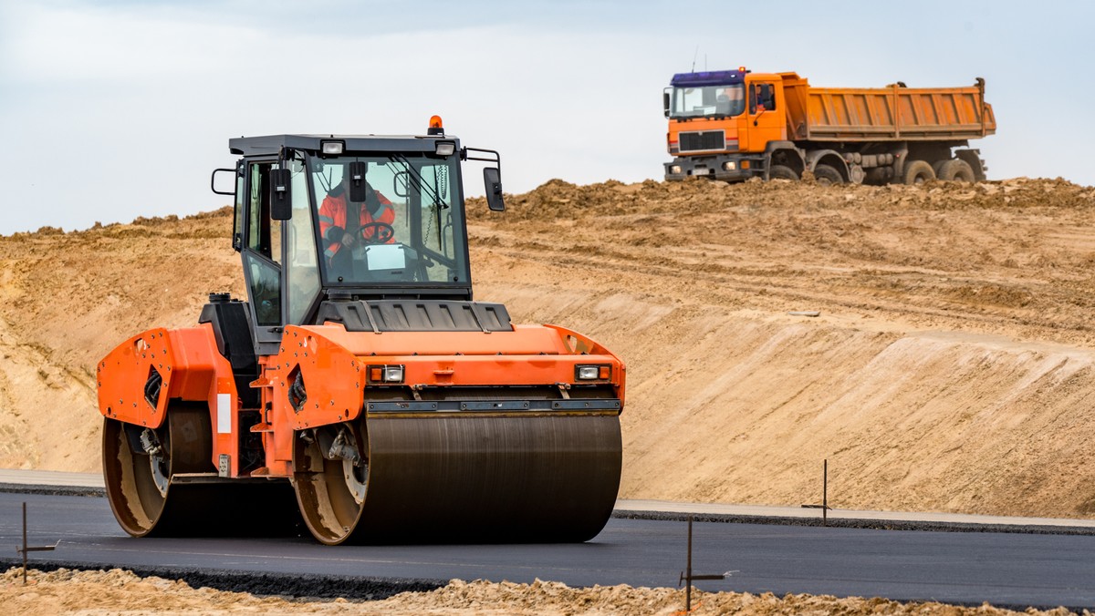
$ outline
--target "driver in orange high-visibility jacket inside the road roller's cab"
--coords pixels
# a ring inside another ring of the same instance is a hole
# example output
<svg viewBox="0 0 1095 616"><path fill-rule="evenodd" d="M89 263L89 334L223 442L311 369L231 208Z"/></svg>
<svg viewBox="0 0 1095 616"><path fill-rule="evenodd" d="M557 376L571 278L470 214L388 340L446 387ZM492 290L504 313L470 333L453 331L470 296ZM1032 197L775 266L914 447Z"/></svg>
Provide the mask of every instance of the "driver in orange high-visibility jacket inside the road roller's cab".
<svg viewBox="0 0 1095 616"><path fill-rule="evenodd" d="M391 244L395 241L392 223L395 208L383 194L366 183L364 202L349 198L349 181L344 177L320 205L320 234L324 254L335 270L350 267L351 253L359 244Z"/></svg>

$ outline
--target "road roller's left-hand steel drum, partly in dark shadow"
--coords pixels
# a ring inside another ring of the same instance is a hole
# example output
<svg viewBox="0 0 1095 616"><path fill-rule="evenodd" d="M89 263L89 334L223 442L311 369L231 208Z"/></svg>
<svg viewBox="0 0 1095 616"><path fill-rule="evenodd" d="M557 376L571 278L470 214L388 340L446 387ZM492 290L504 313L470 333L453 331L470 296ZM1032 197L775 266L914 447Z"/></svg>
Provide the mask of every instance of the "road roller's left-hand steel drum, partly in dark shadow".
<svg viewBox="0 0 1095 616"><path fill-rule="evenodd" d="M287 481L181 484L180 474L216 477L204 405L172 405L159 429L103 423L106 498L135 537L284 535L299 532Z"/></svg>

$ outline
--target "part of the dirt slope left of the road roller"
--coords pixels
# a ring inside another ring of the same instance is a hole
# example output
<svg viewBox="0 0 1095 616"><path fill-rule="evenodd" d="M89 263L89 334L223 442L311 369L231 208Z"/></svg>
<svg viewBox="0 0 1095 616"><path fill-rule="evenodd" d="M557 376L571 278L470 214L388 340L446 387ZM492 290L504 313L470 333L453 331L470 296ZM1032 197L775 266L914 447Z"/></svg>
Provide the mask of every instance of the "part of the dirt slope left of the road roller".
<svg viewBox="0 0 1095 616"><path fill-rule="evenodd" d="M194 325L210 291L240 294L231 225L221 211L0 237L0 467L99 470L95 362Z"/></svg>

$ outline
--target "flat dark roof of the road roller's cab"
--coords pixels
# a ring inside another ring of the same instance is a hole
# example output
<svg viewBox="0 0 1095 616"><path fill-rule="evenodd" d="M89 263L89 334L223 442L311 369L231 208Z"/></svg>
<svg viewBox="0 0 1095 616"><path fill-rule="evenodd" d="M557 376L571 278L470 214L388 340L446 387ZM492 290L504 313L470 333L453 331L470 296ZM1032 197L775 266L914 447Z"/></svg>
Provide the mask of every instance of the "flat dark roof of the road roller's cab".
<svg viewBox="0 0 1095 616"><path fill-rule="evenodd" d="M283 148L320 152L324 141L342 141L346 152L433 152L437 141L459 139L447 135L266 135L234 137L228 140L228 149L244 156L276 155Z"/></svg>

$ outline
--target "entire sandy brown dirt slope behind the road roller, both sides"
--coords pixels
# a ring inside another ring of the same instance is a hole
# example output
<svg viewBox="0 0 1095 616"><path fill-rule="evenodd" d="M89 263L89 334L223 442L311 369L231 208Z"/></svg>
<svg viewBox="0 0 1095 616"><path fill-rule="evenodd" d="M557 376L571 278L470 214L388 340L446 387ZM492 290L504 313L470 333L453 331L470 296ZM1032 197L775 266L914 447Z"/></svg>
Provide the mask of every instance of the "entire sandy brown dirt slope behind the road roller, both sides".
<svg viewBox="0 0 1095 616"><path fill-rule="evenodd" d="M621 496L1095 515L1095 189L552 181L476 298L627 362ZM0 466L97 468L95 360L242 292L221 211L0 237ZM817 311L820 316L794 316Z"/></svg>

